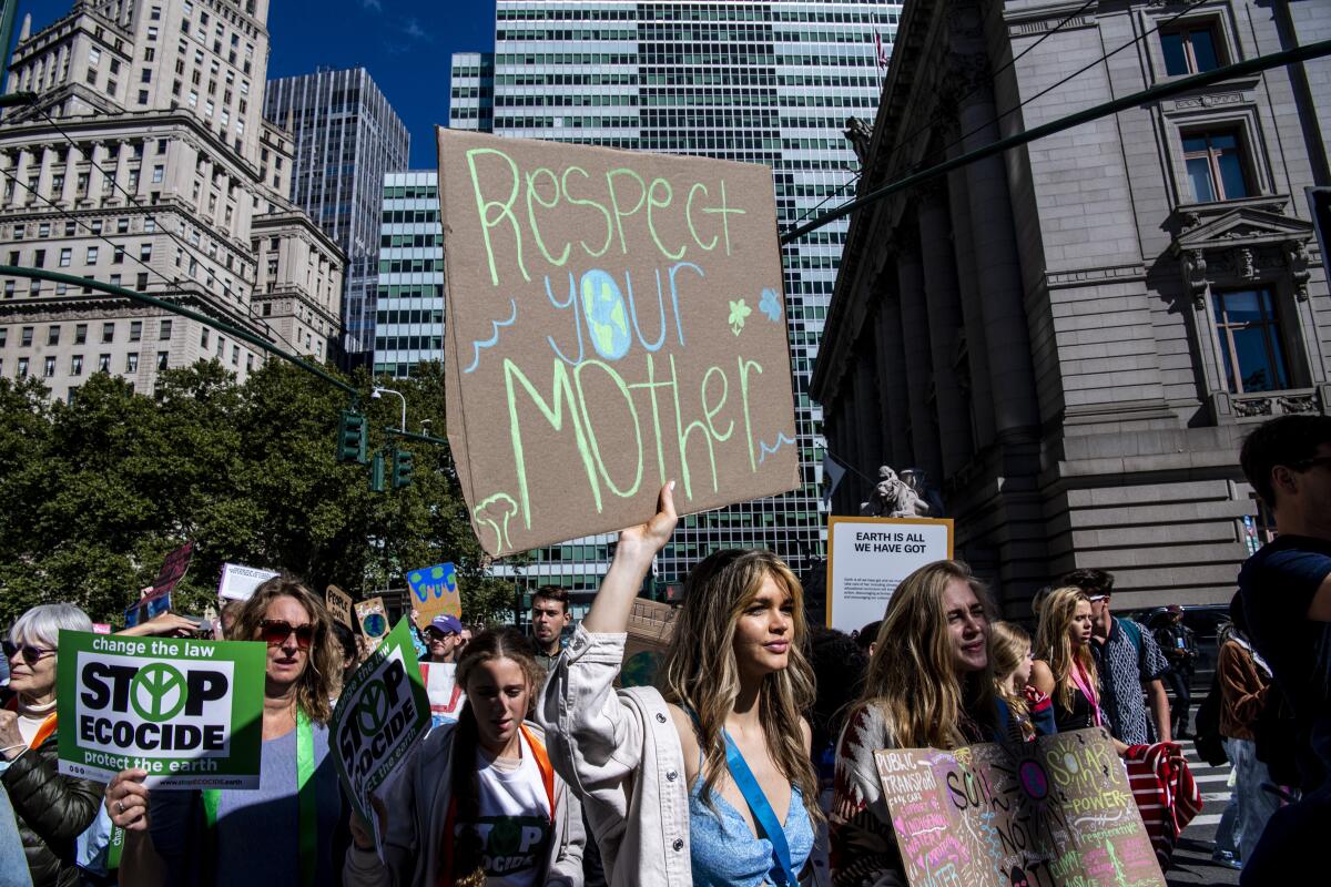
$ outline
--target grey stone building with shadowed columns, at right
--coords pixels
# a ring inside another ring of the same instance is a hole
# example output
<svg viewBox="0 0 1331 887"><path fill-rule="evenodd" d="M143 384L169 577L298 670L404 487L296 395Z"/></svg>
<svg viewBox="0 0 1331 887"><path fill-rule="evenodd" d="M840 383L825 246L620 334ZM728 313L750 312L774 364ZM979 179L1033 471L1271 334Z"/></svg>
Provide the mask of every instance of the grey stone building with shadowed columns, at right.
<svg viewBox="0 0 1331 887"><path fill-rule="evenodd" d="M1328 33L1319 0L916 0L858 193ZM1229 601L1267 523L1238 465L1244 434L1331 407L1306 195L1331 184L1328 136L1320 59L860 210L812 382L829 451L864 476L847 475L833 513L857 513L877 465L917 465L956 520L957 556L1014 616L1077 567L1115 573L1115 608Z"/></svg>

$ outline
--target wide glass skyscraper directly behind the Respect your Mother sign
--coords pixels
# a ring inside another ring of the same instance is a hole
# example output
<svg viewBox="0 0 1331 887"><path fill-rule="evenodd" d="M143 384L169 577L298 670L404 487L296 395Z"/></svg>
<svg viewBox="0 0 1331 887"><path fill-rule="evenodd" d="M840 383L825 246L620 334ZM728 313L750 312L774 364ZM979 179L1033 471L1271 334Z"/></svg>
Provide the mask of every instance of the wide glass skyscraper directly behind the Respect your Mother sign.
<svg viewBox="0 0 1331 887"><path fill-rule="evenodd" d="M498 0L494 56L454 56L450 124L767 164L787 229L853 195L847 120L872 122L877 113L880 59L900 11L882 1ZM804 485L683 519L658 559L659 585L677 584L723 547L772 548L797 570L821 559L823 416L808 380L845 230L833 223L783 249ZM536 552L520 574L531 584L591 585L608 539Z"/></svg>

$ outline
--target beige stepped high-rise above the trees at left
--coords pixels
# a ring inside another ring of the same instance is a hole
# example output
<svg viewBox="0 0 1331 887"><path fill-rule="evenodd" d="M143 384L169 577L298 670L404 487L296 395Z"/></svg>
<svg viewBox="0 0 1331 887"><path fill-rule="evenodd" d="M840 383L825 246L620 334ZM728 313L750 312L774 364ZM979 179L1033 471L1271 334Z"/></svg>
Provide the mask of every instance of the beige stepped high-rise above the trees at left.
<svg viewBox="0 0 1331 887"><path fill-rule="evenodd" d="M268 0L79 0L29 33L0 121L0 261L118 283L323 359L345 259L289 199L291 137L264 121ZM89 287L0 278L0 375L68 398L106 371L264 351Z"/></svg>

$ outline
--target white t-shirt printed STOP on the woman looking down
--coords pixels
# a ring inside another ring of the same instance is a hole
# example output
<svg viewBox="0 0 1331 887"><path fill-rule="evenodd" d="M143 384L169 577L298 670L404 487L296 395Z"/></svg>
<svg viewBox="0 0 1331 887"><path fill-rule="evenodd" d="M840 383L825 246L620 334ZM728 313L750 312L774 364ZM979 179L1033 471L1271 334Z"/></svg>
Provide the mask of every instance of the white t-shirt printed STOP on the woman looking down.
<svg viewBox="0 0 1331 887"><path fill-rule="evenodd" d="M476 786L486 887L540 887L552 835L550 798L526 737L520 761L490 761L478 751Z"/></svg>

